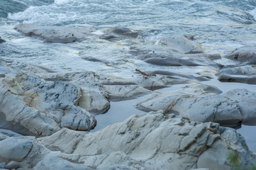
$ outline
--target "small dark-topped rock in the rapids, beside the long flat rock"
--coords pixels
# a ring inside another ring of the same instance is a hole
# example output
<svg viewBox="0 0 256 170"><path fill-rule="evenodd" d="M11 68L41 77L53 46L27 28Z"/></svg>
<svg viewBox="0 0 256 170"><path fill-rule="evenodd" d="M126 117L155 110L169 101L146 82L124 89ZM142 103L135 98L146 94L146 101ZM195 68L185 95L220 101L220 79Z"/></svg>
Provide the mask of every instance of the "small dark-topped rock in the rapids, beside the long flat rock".
<svg viewBox="0 0 256 170"><path fill-rule="evenodd" d="M130 28L113 27L104 31L104 35L100 35L99 38L104 40L121 40L129 38L137 38L138 32L131 30Z"/></svg>

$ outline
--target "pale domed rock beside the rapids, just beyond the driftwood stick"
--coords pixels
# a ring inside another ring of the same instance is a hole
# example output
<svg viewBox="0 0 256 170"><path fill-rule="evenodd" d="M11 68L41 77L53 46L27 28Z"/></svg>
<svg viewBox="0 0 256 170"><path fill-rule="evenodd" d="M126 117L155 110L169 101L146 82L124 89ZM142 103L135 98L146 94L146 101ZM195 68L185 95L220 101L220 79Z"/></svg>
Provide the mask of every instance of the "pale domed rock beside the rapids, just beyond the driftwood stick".
<svg viewBox="0 0 256 170"><path fill-rule="evenodd" d="M130 47L130 53L150 64L163 66L211 66L216 64L201 50L199 45L183 35L162 38L154 45L136 45Z"/></svg>

